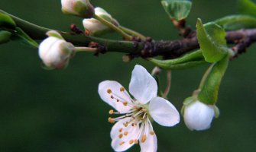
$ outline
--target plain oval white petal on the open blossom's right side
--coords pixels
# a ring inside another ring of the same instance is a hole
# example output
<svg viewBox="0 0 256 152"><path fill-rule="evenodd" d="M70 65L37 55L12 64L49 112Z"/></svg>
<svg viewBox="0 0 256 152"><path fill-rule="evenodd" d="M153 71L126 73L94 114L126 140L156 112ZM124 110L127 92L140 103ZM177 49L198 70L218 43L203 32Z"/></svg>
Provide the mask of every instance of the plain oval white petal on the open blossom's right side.
<svg viewBox="0 0 256 152"><path fill-rule="evenodd" d="M155 97L149 103L151 117L160 125L171 127L180 122L180 114L172 103L161 97Z"/></svg>

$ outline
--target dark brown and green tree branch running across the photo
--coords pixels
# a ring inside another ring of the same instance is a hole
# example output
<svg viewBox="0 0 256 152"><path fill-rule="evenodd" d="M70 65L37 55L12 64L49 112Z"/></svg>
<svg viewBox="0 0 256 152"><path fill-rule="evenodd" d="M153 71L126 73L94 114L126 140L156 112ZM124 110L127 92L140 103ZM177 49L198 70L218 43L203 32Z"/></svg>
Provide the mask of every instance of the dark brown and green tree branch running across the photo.
<svg viewBox="0 0 256 152"><path fill-rule="evenodd" d="M8 14L5 11L0 10L0 12ZM10 15L17 26L21 27L32 39L44 40L47 38L45 33L50 29L31 24L11 14L8 15ZM93 36L78 35L76 33L59 32L66 41L76 46L88 46L90 42L96 42L103 46L104 52L124 52L143 58L162 55L164 59L175 59L193 49L199 49L196 32L191 32L190 36L186 36L186 38L181 40L146 40L142 42L105 40ZM238 55L245 52L245 49L256 41L256 29L228 31L226 33L226 40L228 44L235 44L232 49L235 55Z"/></svg>

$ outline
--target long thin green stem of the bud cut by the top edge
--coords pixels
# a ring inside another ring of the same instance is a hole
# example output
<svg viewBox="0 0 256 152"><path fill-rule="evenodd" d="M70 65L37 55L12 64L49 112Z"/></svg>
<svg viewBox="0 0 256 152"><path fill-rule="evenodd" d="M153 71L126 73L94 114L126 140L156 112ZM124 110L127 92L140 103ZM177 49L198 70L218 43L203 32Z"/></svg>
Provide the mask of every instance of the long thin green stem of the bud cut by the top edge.
<svg viewBox="0 0 256 152"><path fill-rule="evenodd" d="M115 26L111 22L105 20L104 18L100 17L99 15L94 14L94 16L97 20L101 21L102 24L105 24L106 26L112 28L112 30L115 30L115 32L121 34L125 40L132 40L132 37L125 33L123 30L121 30L119 27Z"/></svg>

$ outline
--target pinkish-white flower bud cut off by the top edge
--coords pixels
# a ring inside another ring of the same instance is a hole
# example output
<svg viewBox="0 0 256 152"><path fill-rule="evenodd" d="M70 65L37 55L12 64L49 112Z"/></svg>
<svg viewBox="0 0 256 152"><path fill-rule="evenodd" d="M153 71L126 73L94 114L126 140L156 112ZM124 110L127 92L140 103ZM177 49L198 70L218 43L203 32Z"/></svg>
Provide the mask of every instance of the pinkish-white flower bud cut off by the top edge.
<svg viewBox="0 0 256 152"><path fill-rule="evenodd" d="M73 14L83 18L90 18L94 14L94 8L89 0L61 0L64 14Z"/></svg>

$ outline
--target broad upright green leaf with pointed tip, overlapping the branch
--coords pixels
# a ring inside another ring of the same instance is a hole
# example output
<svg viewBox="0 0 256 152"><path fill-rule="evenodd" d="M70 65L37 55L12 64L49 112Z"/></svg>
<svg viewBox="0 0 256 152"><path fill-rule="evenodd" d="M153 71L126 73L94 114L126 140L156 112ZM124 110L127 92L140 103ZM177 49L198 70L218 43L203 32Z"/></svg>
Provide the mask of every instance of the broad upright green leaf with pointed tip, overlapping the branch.
<svg viewBox="0 0 256 152"><path fill-rule="evenodd" d="M222 27L213 22L203 25L198 19L196 31L206 62L218 62L228 53L225 30Z"/></svg>

